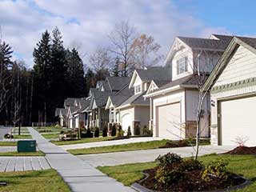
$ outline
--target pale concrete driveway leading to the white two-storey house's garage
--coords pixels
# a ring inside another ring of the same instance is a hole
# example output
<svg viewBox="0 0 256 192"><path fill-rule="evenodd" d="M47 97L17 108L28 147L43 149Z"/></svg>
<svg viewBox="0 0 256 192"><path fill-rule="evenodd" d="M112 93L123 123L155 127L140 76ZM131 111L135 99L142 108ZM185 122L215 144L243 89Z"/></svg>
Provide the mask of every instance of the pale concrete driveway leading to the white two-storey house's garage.
<svg viewBox="0 0 256 192"><path fill-rule="evenodd" d="M79 143L74 145L64 145L60 146L63 150L73 150L73 149L82 149L82 148L90 148L90 147L97 147L97 146L117 146L122 144L134 143L134 142L151 142L155 140L162 140L162 138L126 138L126 139L119 139L114 141L104 141L104 142L87 142L87 143Z"/></svg>

